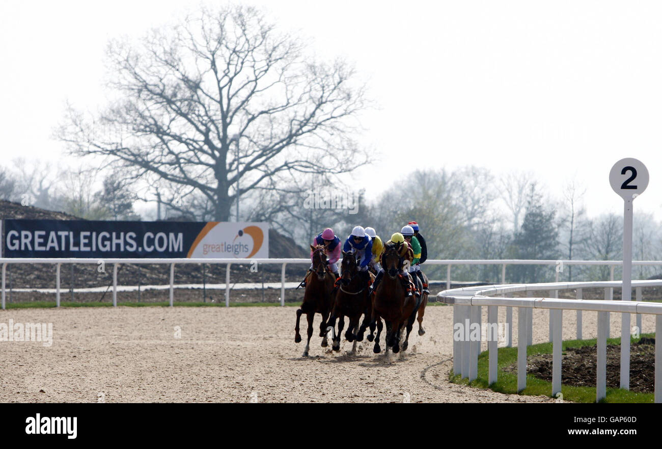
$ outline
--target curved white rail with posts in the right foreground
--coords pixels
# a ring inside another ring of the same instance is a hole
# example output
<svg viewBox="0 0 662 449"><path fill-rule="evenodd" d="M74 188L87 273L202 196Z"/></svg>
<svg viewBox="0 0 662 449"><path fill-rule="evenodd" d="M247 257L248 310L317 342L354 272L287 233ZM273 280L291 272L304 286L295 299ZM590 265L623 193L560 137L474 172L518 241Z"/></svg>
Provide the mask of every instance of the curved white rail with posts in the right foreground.
<svg viewBox="0 0 662 449"><path fill-rule="evenodd" d="M636 262L633 262L633 264ZM641 315L655 315L655 336L662 335L662 304L641 301L642 287L657 287L662 280L632 281L636 289L637 301L610 301L608 290L622 287L622 281L538 283L485 285L445 290L437 294L439 301L453 305L453 374L461 374L469 381L476 379L478 354L481 351L481 307L487 306L487 347L489 351L489 379L491 385L497 377L497 338L495 336L498 307L506 307L506 328L508 346L512 346L512 307L518 308L518 350L517 350L517 385L518 391L526 388L526 347L532 344L533 309L549 309L549 327L553 342L552 387L551 395L561 393L561 347L563 344L563 310L577 311L577 339L581 339L581 312L598 313L598 348L596 372L596 401L606 396L606 341L609 336L609 313L622 315L621 334L621 387L630 385L630 313L638 314L638 326L641 329ZM606 301L582 299L584 288L604 287ZM513 298L507 297L518 291L554 291L576 289L577 299L554 298ZM455 338L455 326L469 326L477 329L477 338L461 340ZM655 339L655 402L662 403L662 342Z"/></svg>

